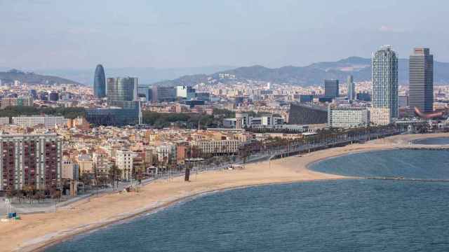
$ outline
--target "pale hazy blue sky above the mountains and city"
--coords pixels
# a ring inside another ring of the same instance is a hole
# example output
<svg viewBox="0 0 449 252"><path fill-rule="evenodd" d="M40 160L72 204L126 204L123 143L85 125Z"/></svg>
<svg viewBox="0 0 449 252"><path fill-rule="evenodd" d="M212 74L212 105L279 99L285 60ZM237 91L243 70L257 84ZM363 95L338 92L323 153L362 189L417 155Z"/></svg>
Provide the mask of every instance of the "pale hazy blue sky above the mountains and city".
<svg viewBox="0 0 449 252"><path fill-rule="evenodd" d="M0 0L0 66L302 66L391 44L449 62L443 0Z"/></svg>

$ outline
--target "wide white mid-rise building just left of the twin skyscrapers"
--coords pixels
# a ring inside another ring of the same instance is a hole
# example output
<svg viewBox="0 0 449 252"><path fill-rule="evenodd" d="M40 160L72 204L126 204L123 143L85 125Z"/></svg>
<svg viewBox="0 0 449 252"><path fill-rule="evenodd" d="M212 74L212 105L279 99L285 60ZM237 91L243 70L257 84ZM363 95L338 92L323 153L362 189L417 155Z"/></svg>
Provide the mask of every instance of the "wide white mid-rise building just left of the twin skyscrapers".
<svg viewBox="0 0 449 252"><path fill-rule="evenodd" d="M366 108L350 106L328 107L328 127L364 127L370 123L370 111Z"/></svg>

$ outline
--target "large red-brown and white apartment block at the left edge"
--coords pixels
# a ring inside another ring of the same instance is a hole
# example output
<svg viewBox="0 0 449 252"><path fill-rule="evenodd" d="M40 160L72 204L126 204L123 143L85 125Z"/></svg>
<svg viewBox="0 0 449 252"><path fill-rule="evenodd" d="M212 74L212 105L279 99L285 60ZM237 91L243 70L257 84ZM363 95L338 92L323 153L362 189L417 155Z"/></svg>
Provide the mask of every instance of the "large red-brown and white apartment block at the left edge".
<svg viewBox="0 0 449 252"><path fill-rule="evenodd" d="M0 190L60 186L61 141L57 134L0 134Z"/></svg>

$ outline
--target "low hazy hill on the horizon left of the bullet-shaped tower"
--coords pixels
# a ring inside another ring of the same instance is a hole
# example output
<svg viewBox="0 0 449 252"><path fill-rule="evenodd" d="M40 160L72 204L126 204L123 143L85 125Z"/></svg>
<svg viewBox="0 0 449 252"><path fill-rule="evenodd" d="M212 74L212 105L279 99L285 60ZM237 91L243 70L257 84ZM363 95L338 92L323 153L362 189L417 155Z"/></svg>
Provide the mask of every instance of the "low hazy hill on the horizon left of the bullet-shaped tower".
<svg viewBox="0 0 449 252"><path fill-rule="evenodd" d="M13 83L14 80L19 80L21 83L32 83L32 84L80 84L73 80L68 80L65 78L60 78L56 76L44 76L32 72L19 71L17 69L12 69L10 71L0 71L1 83Z"/></svg>

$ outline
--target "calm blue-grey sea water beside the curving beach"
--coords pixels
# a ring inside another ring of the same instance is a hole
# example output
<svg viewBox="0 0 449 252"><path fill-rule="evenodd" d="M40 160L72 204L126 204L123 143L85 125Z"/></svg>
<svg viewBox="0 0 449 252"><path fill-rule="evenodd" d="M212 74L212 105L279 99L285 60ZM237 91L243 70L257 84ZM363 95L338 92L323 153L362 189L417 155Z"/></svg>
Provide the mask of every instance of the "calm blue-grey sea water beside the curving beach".
<svg viewBox="0 0 449 252"><path fill-rule="evenodd" d="M311 168L449 179L449 152L376 151ZM292 183L198 197L47 251L449 251L449 183Z"/></svg>

